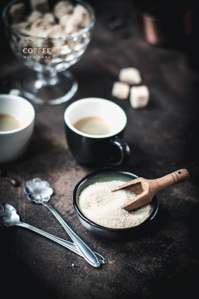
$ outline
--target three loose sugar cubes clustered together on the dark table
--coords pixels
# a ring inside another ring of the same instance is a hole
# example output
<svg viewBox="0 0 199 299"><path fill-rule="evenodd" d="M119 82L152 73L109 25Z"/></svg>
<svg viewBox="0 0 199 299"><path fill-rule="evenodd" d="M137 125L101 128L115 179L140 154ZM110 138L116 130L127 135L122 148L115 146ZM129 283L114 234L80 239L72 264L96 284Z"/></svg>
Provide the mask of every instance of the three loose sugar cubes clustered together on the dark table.
<svg viewBox="0 0 199 299"><path fill-rule="evenodd" d="M146 85L138 85L142 82L141 74L137 68L122 68L119 73L119 81L113 84L112 95L120 100L129 97L132 108L144 108L149 102L149 89Z"/></svg>

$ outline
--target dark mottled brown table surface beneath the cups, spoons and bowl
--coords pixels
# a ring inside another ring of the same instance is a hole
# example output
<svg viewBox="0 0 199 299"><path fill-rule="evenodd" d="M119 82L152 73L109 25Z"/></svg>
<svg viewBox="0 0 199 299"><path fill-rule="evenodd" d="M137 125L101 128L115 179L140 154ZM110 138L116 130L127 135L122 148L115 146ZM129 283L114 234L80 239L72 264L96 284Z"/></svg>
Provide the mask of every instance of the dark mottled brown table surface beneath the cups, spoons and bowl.
<svg viewBox="0 0 199 299"><path fill-rule="evenodd" d="M111 3L111 1L109 1ZM120 2L117 2L120 5ZM124 3L124 2L123 2ZM126 10L130 2L126 4ZM108 259L94 269L83 258L23 228L1 228L1 290L21 298L178 298L191 296L198 280L198 71L194 53L187 49L153 47L134 25L111 30L102 2L92 40L71 71L79 88L74 98L59 106L35 106L36 124L31 146L18 161L7 165L0 178L0 202L13 205L21 219L49 233L67 238L48 210L24 196L25 182L47 179L55 190L51 204L93 249ZM107 6L106 6L107 5ZM123 6L119 7L123 12ZM1 92L15 86L18 74L29 72L11 53L1 55ZM133 110L129 100L111 97L122 67L141 71L150 91L145 109ZM143 236L115 242L91 235L79 222L72 205L75 184L93 169L78 165L65 140L63 114L74 100L103 97L127 113L125 140L130 161L121 166L158 178L187 168L189 181L159 193L154 224ZM20 187L10 185L16 177ZM69 238L68 238L69 239ZM74 266L72 266L74 264Z"/></svg>

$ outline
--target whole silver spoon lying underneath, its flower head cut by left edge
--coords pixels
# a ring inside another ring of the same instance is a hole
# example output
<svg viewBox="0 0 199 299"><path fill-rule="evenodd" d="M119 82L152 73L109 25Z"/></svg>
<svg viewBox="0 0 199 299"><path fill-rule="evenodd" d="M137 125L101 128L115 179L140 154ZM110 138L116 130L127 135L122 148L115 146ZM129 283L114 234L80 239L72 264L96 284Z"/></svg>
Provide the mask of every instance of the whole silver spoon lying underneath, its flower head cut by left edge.
<svg viewBox="0 0 199 299"><path fill-rule="evenodd" d="M17 226L21 226L24 228L28 228L31 231L35 231L36 233L50 239L53 240L54 242L70 249L71 251L75 252L76 254L81 255L81 253L77 250L76 246L74 243L63 240L61 238L55 237L51 234L46 233L45 231L42 231L41 229L38 229L30 224L24 223L20 221L19 215L16 213L16 209L9 205L9 204L0 204L0 226L13 226L13 225L17 225ZM97 252L95 252L95 254L97 255L97 257L99 258L99 261L101 264L106 264L107 263L107 259L105 257L103 257L101 254L98 254Z"/></svg>

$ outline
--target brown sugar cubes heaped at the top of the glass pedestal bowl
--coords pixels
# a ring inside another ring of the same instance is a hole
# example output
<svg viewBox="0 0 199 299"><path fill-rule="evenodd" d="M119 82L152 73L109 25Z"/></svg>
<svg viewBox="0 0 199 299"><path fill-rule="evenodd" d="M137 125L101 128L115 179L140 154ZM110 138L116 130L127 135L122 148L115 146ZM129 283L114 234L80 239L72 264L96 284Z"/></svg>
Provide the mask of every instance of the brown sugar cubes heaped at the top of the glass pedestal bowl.
<svg viewBox="0 0 199 299"><path fill-rule="evenodd" d="M32 12L26 16L24 2L10 7L13 28L27 33L27 28L43 26L43 36L58 38L78 32L90 24L90 13L82 4L73 5L70 1L58 1L53 10L47 0L30 0ZM37 36L40 37L40 36Z"/></svg>

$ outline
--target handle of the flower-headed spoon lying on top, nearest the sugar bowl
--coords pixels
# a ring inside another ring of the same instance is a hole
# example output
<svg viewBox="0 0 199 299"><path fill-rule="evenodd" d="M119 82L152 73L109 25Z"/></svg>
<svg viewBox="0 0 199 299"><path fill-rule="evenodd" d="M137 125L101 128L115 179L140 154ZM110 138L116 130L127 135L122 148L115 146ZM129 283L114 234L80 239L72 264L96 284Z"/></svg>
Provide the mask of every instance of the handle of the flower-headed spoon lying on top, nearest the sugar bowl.
<svg viewBox="0 0 199 299"><path fill-rule="evenodd" d="M80 239L80 237L75 234L75 232L70 228L70 226L67 225L67 223L61 218L61 216L57 213L57 211L51 207L49 203L44 204L42 203L45 207L47 207L51 213L57 218L57 220L61 223L63 228L67 231L73 242L75 243L77 249L80 251L84 259L93 267L99 267L100 262L96 254L92 251L92 249L84 243Z"/></svg>

